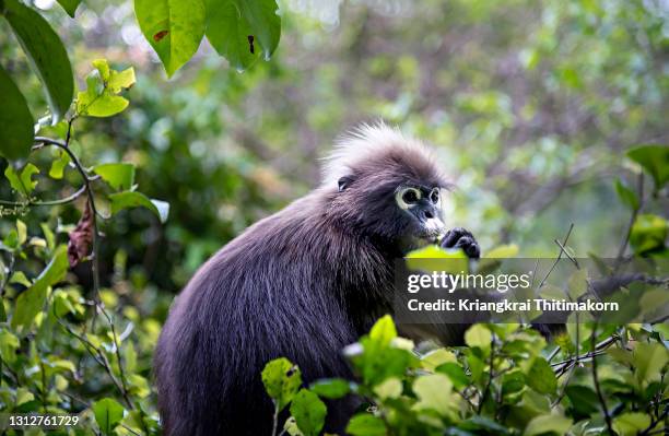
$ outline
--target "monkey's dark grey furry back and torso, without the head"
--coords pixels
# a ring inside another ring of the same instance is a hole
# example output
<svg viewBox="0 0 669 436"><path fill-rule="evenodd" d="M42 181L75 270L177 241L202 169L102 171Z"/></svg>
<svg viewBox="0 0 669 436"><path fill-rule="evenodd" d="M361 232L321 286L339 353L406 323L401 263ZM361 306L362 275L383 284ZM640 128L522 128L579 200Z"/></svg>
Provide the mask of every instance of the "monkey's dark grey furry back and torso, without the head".
<svg viewBox="0 0 669 436"><path fill-rule="evenodd" d="M340 350L356 340L360 318L377 315L353 319L351 305L388 285L379 275L387 261L333 226L322 198L249 227L175 301L155 353L167 435L269 434L273 408L260 373L275 357L296 363L306 381L351 376ZM361 283L368 288L351 288ZM332 413L330 425L340 425Z"/></svg>

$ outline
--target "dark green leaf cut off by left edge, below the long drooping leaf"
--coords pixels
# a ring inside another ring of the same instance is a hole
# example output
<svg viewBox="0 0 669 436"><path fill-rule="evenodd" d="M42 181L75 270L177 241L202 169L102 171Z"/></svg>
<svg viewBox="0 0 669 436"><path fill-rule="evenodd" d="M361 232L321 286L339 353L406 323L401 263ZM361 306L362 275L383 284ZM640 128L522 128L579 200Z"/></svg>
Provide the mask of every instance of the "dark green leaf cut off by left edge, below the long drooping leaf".
<svg viewBox="0 0 669 436"><path fill-rule="evenodd" d="M0 66L0 155L15 161L25 158L33 146L33 115L25 97Z"/></svg>

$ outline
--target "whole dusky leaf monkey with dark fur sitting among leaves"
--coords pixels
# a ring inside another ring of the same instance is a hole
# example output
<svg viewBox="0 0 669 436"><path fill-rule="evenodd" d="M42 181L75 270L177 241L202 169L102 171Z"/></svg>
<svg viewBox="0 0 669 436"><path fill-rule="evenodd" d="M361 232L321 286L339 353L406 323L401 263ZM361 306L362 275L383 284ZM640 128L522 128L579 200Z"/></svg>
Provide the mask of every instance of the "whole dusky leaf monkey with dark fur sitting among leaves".
<svg viewBox="0 0 669 436"><path fill-rule="evenodd" d="M351 378L341 350L392 311L396 259L444 235L479 256L469 232L446 234L446 187L427 149L396 129L342 139L318 188L225 245L176 298L155 353L165 434L269 435L260 373L275 357L306 382ZM331 403L326 431L343 434L354 406Z"/></svg>

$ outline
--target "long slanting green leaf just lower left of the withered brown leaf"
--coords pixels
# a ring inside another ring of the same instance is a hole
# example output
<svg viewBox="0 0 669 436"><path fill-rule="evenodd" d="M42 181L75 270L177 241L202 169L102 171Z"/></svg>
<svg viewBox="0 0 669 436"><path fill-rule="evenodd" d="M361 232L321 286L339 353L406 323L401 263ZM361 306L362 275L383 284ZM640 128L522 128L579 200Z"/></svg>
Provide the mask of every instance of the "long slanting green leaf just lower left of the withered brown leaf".
<svg viewBox="0 0 669 436"><path fill-rule="evenodd" d="M35 316L42 310L47 297L47 288L62 281L68 271L68 250L64 245L54 252L54 258L39 274L35 283L16 298L16 310L12 318L12 327L27 329Z"/></svg>

